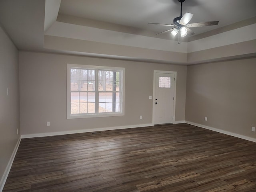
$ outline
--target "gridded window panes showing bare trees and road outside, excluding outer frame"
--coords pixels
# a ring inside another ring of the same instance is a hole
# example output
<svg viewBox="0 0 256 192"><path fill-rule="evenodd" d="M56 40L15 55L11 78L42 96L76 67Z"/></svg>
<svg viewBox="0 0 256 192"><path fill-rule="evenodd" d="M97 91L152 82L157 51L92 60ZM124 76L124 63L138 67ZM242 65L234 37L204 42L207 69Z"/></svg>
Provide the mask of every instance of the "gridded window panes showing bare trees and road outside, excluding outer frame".
<svg viewBox="0 0 256 192"><path fill-rule="evenodd" d="M70 68L71 114L120 112L120 74Z"/></svg>

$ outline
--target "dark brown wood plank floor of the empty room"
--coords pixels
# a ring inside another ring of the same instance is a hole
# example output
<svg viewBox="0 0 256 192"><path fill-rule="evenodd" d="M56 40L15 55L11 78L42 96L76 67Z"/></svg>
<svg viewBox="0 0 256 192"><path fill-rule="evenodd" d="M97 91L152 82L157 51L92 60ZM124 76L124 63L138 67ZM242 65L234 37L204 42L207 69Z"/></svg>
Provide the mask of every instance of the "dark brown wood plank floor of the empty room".
<svg viewBox="0 0 256 192"><path fill-rule="evenodd" d="M256 143L185 123L22 139L5 191L256 191Z"/></svg>

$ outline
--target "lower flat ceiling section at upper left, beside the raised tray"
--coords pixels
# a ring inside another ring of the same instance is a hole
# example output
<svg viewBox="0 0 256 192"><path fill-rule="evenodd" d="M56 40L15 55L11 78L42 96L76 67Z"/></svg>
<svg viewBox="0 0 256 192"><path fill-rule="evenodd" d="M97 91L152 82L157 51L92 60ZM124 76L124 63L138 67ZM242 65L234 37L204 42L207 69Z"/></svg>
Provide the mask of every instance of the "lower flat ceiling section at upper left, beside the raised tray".
<svg viewBox="0 0 256 192"><path fill-rule="evenodd" d="M44 45L44 1L0 0L0 24L18 49Z"/></svg>

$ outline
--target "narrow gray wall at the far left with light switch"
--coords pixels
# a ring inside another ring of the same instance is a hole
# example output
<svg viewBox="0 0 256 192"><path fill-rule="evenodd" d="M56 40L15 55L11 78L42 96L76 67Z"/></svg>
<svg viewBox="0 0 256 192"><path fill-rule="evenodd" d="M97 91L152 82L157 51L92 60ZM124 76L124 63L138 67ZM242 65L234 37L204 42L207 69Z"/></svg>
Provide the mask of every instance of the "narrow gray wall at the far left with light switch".
<svg viewBox="0 0 256 192"><path fill-rule="evenodd" d="M0 26L0 180L20 137L17 129L20 133L18 50Z"/></svg>

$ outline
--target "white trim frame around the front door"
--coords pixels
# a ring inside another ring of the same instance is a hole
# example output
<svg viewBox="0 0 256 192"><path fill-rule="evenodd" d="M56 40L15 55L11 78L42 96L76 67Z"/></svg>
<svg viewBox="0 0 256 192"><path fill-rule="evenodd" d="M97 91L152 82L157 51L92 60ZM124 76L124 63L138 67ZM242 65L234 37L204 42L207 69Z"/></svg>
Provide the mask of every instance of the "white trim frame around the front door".
<svg viewBox="0 0 256 192"><path fill-rule="evenodd" d="M155 125L155 86L156 86L156 73L168 73L168 74L174 74L174 101L173 101L173 123L175 122L175 106L176 106L176 82L177 82L177 72L176 71L157 71L154 70L154 82L153 82L153 119L152 124Z"/></svg>

